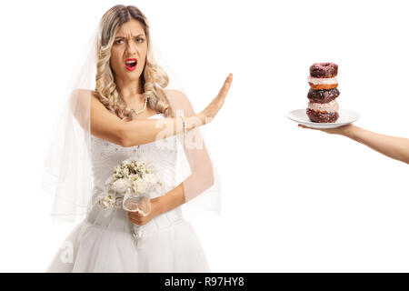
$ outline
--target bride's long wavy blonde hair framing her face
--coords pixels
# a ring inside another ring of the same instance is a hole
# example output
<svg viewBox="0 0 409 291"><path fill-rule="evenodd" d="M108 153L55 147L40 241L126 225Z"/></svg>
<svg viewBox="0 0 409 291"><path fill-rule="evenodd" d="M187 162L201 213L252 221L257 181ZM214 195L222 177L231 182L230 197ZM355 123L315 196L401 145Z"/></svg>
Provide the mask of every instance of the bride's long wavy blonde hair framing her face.
<svg viewBox="0 0 409 291"><path fill-rule="evenodd" d="M142 71L141 83L144 97L148 105L158 113L174 115L164 88L169 83L168 75L155 64L149 35L149 24L145 15L132 5L115 5L103 15L99 26L99 41L97 43L97 61L95 75L95 95L105 105L106 109L119 118L129 121L135 119L135 110L127 109L123 96L116 89L114 74L110 65L111 48L114 45L115 34L125 22L135 19L144 27L147 40L145 68Z"/></svg>

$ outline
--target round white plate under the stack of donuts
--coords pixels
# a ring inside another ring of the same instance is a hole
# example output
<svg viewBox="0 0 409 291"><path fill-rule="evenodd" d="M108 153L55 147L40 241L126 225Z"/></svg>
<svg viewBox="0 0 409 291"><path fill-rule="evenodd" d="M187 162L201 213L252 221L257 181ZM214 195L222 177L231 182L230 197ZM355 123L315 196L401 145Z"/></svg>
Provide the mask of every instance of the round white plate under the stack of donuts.
<svg viewBox="0 0 409 291"><path fill-rule="evenodd" d="M287 117L300 125L305 125L313 128L335 128L342 125L352 124L359 118L359 114L352 110L340 109L338 110L339 118L336 122L321 124L312 122L306 115L305 109L306 108L290 111L289 113L287 113Z"/></svg>

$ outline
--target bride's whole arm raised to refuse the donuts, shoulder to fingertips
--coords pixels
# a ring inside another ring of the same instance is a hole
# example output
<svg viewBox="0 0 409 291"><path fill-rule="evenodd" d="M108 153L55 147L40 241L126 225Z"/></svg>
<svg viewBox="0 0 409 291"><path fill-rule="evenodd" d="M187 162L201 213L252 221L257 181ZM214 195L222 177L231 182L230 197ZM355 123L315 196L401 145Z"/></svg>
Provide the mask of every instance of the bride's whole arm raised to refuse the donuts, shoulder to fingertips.
<svg viewBox="0 0 409 291"><path fill-rule="evenodd" d="M185 114L187 130L210 122L224 103L225 95L232 83L229 75L220 93L199 114ZM132 120L124 122L109 112L92 94L91 90L76 89L70 99L72 113L79 125L92 135L110 141L119 146L139 146L158 139L180 133L183 128L176 126L181 121L176 117L166 117L157 123L155 119ZM179 118L179 117L178 117ZM88 128L88 123L90 128ZM161 125L161 126L157 126ZM169 130L170 129L170 130ZM165 135L163 133L165 132Z"/></svg>

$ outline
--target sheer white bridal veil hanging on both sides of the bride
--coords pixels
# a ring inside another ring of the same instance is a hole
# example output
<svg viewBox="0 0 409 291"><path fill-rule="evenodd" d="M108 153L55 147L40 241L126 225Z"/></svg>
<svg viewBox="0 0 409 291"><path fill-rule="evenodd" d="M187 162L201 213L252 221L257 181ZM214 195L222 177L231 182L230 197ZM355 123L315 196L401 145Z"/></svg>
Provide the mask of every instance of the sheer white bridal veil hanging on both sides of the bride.
<svg viewBox="0 0 409 291"><path fill-rule="evenodd" d="M90 98L79 94L79 89L95 90L100 34L98 25L85 45L79 65L75 68L72 84L68 85L70 89L64 95L64 104L59 109L52 142L45 157L42 188L54 195L51 216L57 222L80 221L92 207L94 185L90 159L92 151ZM189 96L153 44L152 38L150 45L153 48L155 63L169 76L169 84L165 89L178 90ZM195 114L189 98L185 98L183 102L169 97L168 99L176 115ZM155 119L152 121L155 122ZM182 121L180 126L183 126ZM205 211L213 211L220 215L220 179L210 157L209 148L205 146L200 127L188 131L185 139L183 135L178 135L177 139L176 186L183 182L186 200L182 206L184 216ZM160 143L160 140L156 142Z"/></svg>

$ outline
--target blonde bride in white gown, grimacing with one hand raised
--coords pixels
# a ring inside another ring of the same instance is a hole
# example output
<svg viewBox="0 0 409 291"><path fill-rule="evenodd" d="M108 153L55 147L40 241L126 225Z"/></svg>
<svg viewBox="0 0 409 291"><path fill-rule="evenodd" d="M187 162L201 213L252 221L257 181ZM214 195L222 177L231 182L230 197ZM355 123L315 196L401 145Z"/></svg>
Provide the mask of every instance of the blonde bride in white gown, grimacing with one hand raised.
<svg viewBox="0 0 409 291"><path fill-rule="evenodd" d="M75 164L86 160L83 139L74 142L65 135L64 170L59 172L64 178L58 183L54 215L83 214L78 208L85 204L87 209L85 220L67 236L47 272L210 271L195 230L181 212L182 205L195 202L196 196L214 186L206 148L185 146L192 174L175 185L175 147L159 147L155 142L162 139L175 145L176 136L199 136L195 130L212 121L224 105L233 77L229 75L214 100L195 114L185 94L166 89L168 75L155 63L151 45L148 22L135 6L115 5L102 17L95 44L95 90L74 91L70 109L75 122L67 122L65 127L72 139L84 133L85 145L90 144L91 202L87 202L87 166ZM83 77L87 75L81 75L79 82ZM184 115L177 115L177 111ZM82 128L79 134L75 134L76 123ZM164 127L168 129L166 135L162 135ZM106 178L115 165L135 155L151 160L163 178L162 191L151 198L151 212L144 216L122 207L105 211L97 197ZM134 225L144 226L142 247L135 245Z"/></svg>

